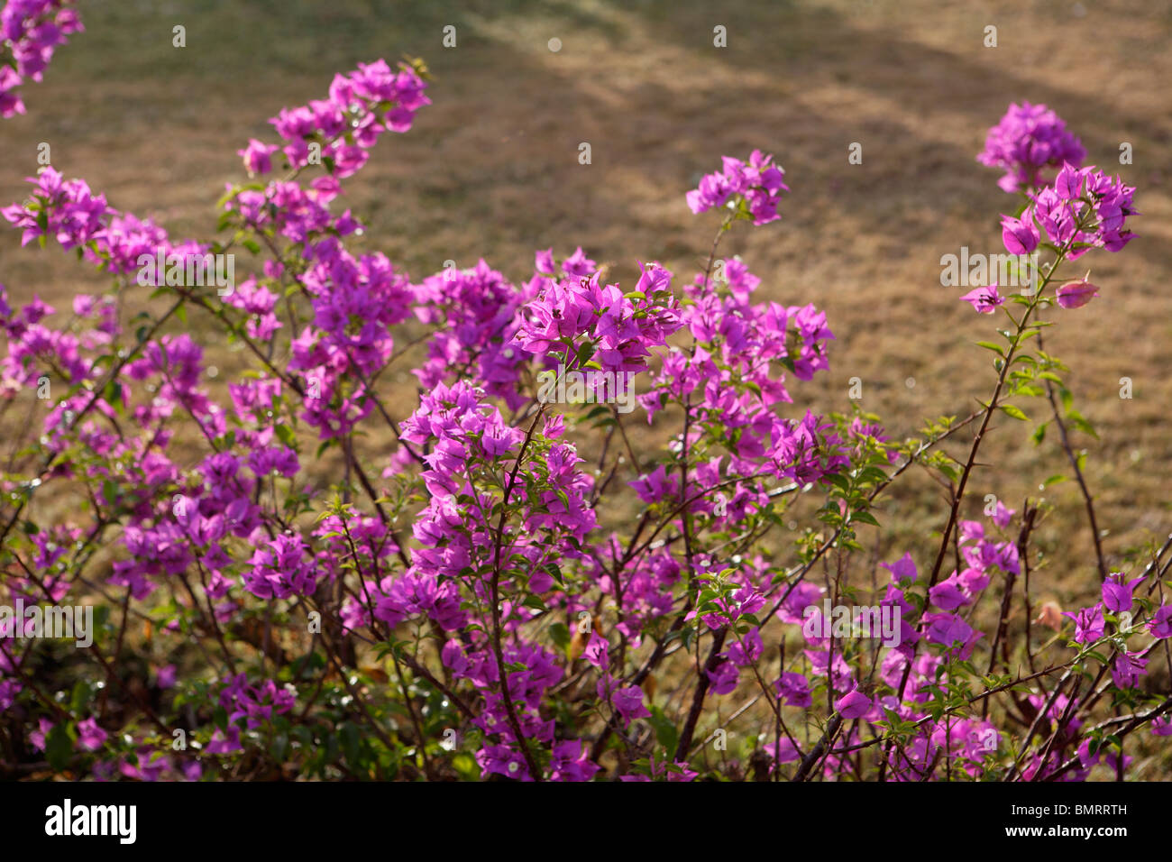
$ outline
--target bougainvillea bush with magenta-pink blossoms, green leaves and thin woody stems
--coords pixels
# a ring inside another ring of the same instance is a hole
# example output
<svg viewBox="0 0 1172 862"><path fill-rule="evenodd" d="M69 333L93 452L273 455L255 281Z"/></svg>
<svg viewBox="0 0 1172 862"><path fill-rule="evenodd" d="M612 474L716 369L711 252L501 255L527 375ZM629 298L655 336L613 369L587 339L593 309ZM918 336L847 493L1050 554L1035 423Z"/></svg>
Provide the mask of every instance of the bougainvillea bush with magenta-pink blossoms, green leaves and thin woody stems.
<svg viewBox="0 0 1172 862"><path fill-rule="evenodd" d="M21 0L2 27L11 115L80 22ZM519 283L356 251L343 186L427 91L422 63L380 60L281 110L207 238L49 165L4 210L109 277L63 308L0 290L6 776L1068 781L1172 735L1172 544L1105 564L1086 422L1043 345L1112 291L1089 269L1133 238L1134 189L1052 111L1011 106L980 156L1034 269L961 297L989 315L976 409L894 441L845 394L803 407L826 315L721 257L731 230L784 230L761 151L681 189L715 233L682 277L611 284L572 244ZM207 331L250 365L220 388ZM1084 494L1086 606L1033 604L1045 507L986 493L984 437L1031 429ZM875 569L872 507L913 467L947 490L939 531ZM93 625L48 637L18 606Z"/></svg>

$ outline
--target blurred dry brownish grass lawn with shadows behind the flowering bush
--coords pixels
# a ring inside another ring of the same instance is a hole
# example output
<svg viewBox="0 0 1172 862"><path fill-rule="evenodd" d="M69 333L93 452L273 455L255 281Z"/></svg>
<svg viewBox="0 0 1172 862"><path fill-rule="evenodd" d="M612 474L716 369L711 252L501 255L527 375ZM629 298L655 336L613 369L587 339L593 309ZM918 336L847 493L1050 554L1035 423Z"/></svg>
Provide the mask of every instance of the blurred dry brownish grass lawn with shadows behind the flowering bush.
<svg viewBox="0 0 1172 862"><path fill-rule="evenodd" d="M1109 562L1142 559L1172 529L1168 2L95 0L80 11L86 33L25 88L28 115L0 125L0 202L23 198L48 142L54 167L111 205L207 239L224 184L244 178L236 150L275 140L268 117L323 97L359 61L420 56L434 106L409 134L382 138L346 186L345 205L369 226L359 249L416 280L481 257L527 278L533 251L551 245L559 257L581 245L624 285L636 260L690 280L717 219L693 216L684 192L722 155L774 152L792 190L783 220L737 225L722 253L763 279L758 298L829 314L831 369L793 381L795 410L847 409L857 376L861 406L894 437L925 418L965 416L992 391L990 354L973 342L994 337L995 318L958 300L966 287L940 285L940 258L1002 251L999 212L1016 201L975 155L1010 102L1044 102L1082 138L1086 163L1138 186L1143 213L1124 252L1084 258L1102 297L1054 310L1061 326L1047 335L1071 367L1074 406L1099 432L1075 444L1089 453ZM185 48L172 47L176 25ZM714 47L717 26L727 47ZM1133 164L1118 163L1123 142ZM861 164L847 162L852 143ZM21 250L13 231L0 233L0 281L13 304L36 293L62 310L108 286L70 256ZM199 340L222 379L245 365L214 333ZM1131 400L1119 398L1123 376ZM1042 401L1021 406L1044 418ZM1038 491L1069 473L1064 455L1052 434L1035 447L1033 423L994 427L982 461L997 468L975 474L966 515L984 494L1015 509L1027 494L1056 504L1036 532L1049 565L1035 591L1069 608L1098 578L1075 482ZM948 450L963 457L969 440ZM877 513L884 558L921 556L942 503L926 475L911 475Z"/></svg>

